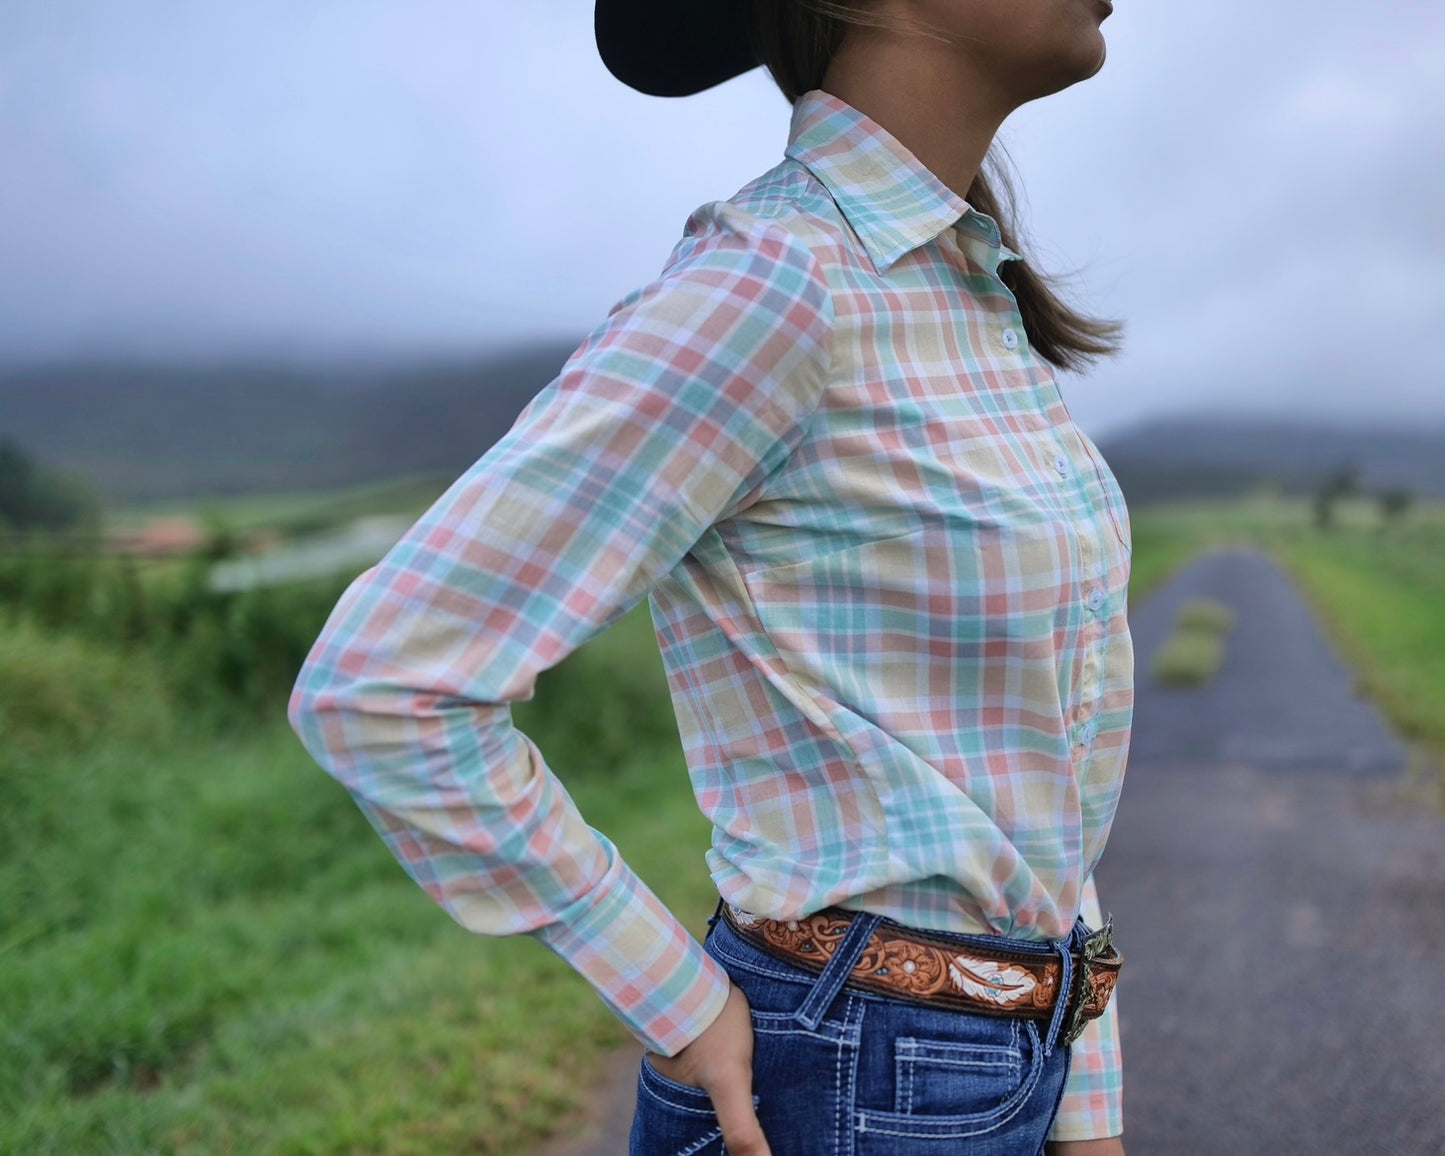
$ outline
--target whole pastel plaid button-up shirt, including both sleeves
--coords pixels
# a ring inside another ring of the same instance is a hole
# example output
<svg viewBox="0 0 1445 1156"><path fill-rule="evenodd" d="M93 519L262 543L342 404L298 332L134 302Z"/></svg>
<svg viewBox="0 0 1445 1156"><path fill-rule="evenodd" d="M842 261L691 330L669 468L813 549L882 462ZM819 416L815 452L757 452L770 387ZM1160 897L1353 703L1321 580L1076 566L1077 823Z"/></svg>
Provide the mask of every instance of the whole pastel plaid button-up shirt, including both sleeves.
<svg viewBox="0 0 1445 1156"><path fill-rule="evenodd" d="M526 932L675 1055L728 980L510 704L650 597L737 906L1027 939L1092 909L1133 717L1123 494L998 279L998 228L814 91L363 574L290 720L464 926ZM1120 1126L1113 1014L1056 1139Z"/></svg>

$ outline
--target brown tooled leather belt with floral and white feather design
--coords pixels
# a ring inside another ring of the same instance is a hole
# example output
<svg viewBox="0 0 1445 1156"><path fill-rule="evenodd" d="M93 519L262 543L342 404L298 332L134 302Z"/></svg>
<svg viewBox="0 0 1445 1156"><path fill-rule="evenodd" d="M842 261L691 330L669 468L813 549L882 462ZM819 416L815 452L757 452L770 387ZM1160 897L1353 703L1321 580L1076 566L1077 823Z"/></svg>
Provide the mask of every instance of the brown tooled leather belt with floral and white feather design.
<svg viewBox="0 0 1445 1156"><path fill-rule="evenodd" d="M848 931L854 912L828 907L802 919L764 919L731 903L722 916L749 942L808 971L822 971ZM1064 1042L1104 1014L1124 962L1105 923L1074 952L1074 983ZM906 1000L944 1004L984 1016L1048 1019L1064 970L1056 954L957 944L926 931L880 923L854 964L848 984ZM1082 997L1082 998L1079 998Z"/></svg>

